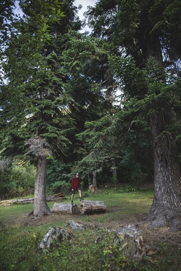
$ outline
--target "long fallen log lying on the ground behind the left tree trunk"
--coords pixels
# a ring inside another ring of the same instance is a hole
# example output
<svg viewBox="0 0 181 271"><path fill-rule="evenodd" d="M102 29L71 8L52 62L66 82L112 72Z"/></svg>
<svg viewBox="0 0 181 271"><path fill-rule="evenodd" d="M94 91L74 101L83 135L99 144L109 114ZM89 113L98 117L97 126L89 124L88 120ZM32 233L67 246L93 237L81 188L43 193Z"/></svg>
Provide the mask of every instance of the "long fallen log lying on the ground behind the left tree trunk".
<svg viewBox="0 0 181 271"><path fill-rule="evenodd" d="M57 193L54 195L50 195L46 197L47 202L52 202L52 201L65 201L66 197L64 193ZM26 204L26 203L34 203L34 198L20 198L16 200L6 200L6 201L0 201L0 205L11 205L11 204Z"/></svg>

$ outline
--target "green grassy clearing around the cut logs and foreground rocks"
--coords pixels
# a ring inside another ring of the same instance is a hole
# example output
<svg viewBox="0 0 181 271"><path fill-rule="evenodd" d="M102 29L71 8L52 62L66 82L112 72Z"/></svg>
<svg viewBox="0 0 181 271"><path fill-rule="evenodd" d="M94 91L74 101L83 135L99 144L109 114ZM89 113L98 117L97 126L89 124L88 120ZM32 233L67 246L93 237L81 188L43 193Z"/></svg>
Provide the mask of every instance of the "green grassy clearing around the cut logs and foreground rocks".
<svg viewBox="0 0 181 271"><path fill-rule="evenodd" d="M47 223L37 223L35 226L22 223L19 217L32 211L33 204L12 205L0 207L0 270L2 271L101 271L101 270L180 270L179 257L175 251L170 255L171 248L167 242L161 242L160 251L165 251L165 258L147 261L141 267L125 259L116 245L112 244L115 233L108 233L107 227L118 225L121 221L149 211L153 191L124 192L105 189L96 194L89 192L83 195L85 200L102 200L107 205L107 212L99 215L61 215L61 219L50 220ZM70 195L65 203L70 203ZM79 204L75 194L74 203ZM50 208L53 202L48 203ZM59 216L57 216L59 218ZM94 230L73 231L68 222L96 224ZM42 221L41 221L42 222ZM66 226L65 226L66 223ZM57 226L68 230L72 241L61 244L55 241L51 250L40 251L38 246L41 238L50 227ZM99 244L97 237L104 236ZM178 253L180 251L178 250ZM174 254L174 256L173 256Z"/></svg>

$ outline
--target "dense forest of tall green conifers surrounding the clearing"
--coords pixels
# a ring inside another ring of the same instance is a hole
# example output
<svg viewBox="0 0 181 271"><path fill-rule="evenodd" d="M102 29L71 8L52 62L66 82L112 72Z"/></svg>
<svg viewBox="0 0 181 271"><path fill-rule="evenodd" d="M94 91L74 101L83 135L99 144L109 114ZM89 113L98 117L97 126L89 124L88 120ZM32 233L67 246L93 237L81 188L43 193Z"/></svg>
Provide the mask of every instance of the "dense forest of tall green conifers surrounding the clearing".
<svg viewBox="0 0 181 271"><path fill-rule="evenodd" d="M153 225L181 229L181 1L0 3L0 197L154 182ZM45 185L46 183L46 185Z"/></svg>

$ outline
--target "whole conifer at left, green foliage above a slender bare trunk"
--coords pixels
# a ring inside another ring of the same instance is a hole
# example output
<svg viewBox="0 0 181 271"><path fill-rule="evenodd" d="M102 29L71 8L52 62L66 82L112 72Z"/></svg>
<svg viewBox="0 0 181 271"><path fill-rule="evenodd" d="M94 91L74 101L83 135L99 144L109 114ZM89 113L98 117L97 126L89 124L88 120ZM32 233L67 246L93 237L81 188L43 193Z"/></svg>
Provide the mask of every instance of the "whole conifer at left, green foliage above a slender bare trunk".
<svg viewBox="0 0 181 271"><path fill-rule="evenodd" d="M45 197L47 158L66 155L74 127L70 96L63 87L66 75L54 48L56 42L63 46L64 33L78 29L80 23L74 23L72 0L64 7L59 0L25 0L20 6L24 15L12 20L15 31L3 52L7 84L1 85L0 138L2 155L26 154L36 164L33 214L42 216L50 213Z"/></svg>

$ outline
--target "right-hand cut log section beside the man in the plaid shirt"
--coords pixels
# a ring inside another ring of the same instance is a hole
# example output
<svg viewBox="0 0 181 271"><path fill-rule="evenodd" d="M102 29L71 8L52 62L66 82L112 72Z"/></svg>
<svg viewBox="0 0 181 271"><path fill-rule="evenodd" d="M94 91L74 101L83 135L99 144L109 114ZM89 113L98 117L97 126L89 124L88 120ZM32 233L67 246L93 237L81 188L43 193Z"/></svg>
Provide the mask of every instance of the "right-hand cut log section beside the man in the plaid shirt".
<svg viewBox="0 0 181 271"><path fill-rule="evenodd" d="M106 211L106 205L102 201L81 201L80 213L81 214L94 214Z"/></svg>

